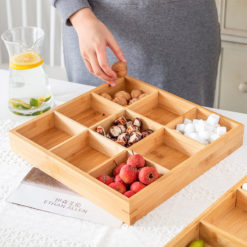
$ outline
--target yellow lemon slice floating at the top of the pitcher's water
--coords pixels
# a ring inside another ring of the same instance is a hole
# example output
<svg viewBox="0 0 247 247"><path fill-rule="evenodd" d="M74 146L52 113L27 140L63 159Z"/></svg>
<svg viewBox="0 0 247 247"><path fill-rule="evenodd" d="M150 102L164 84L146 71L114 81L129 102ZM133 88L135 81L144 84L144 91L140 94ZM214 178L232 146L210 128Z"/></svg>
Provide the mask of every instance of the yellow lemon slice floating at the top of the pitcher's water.
<svg viewBox="0 0 247 247"><path fill-rule="evenodd" d="M25 52L10 59L9 66L15 70L32 69L43 64L41 56L35 52Z"/></svg>

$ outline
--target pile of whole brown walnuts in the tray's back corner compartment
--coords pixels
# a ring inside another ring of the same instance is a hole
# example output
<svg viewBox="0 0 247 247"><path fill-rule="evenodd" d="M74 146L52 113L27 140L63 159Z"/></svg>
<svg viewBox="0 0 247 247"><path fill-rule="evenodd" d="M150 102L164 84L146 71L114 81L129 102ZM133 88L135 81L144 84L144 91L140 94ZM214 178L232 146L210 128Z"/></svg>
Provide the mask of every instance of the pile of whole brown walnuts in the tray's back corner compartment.
<svg viewBox="0 0 247 247"><path fill-rule="evenodd" d="M123 90L118 91L114 94L114 98L112 98L112 96L108 93L101 93L100 95L106 99L112 100L119 105L126 106L133 104L139 99L145 97L147 94L142 90L133 89L130 93Z"/></svg>

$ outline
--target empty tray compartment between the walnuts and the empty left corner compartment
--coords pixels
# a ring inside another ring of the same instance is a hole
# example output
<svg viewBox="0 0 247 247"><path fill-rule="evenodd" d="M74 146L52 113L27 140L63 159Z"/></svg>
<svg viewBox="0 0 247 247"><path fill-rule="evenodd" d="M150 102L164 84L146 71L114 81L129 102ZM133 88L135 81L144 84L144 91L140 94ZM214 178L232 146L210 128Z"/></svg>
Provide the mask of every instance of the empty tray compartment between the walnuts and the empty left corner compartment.
<svg viewBox="0 0 247 247"><path fill-rule="evenodd" d="M58 108L58 111L80 124L90 127L121 109L121 106L110 104L105 98L90 93L68 102Z"/></svg>

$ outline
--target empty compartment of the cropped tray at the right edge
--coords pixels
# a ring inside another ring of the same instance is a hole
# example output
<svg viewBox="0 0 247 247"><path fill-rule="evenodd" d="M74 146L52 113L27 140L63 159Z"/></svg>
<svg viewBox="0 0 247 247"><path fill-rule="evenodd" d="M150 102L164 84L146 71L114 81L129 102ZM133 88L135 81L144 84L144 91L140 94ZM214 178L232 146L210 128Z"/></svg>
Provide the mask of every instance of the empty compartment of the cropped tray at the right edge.
<svg viewBox="0 0 247 247"><path fill-rule="evenodd" d="M203 221L247 243L247 193L231 193Z"/></svg>

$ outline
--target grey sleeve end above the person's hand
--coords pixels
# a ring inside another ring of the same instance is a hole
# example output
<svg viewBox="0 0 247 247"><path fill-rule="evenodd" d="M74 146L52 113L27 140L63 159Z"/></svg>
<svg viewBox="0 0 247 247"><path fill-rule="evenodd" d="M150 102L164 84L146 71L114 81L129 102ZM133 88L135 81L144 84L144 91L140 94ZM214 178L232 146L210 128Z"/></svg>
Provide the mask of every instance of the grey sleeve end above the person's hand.
<svg viewBox="0 0 247 247"><path fill-rule="evenodd" d="M52 5L58 9L61 13L62 18L66 25L71 26L69 20L70 16L73 15L80 9L91 8L88 0L51 0Z"/></svg>

